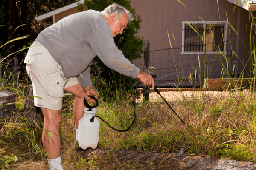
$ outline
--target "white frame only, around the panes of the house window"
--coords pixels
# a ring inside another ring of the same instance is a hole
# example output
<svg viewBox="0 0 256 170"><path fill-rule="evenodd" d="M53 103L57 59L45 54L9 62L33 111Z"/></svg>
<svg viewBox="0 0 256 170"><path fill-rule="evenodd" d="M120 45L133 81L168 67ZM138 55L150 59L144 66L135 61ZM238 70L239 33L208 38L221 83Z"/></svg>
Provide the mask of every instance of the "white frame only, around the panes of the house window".
<svg viewBox="0 0 256 170"><path fill-rule="evenodd" d="M204 51L203 52L196 52L196 51L190 51L190 52L184 52L184 44L185 44L185 24L189 23L191 26L194 25L194 23L200 23L202 26L204 26ZM221 51L222 53L226 53L226 40L227 40L227 21L183 21L182 22L182 50L181 54L216 54L219 51L205 51L205 30L206 26L211 24L211 26L219 26L224 25L224 50Z"/></svg>

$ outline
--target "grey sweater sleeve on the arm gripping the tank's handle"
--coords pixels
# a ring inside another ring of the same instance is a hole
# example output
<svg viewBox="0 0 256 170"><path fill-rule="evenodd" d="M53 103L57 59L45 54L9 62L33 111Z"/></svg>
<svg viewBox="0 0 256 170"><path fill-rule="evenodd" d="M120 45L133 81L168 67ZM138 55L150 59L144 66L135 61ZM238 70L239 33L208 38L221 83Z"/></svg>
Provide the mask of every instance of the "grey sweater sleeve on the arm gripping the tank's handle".
<svg viewBox="0 0 256 170"><path fill-rule="evenodd" d="M77 77L77 80L79 84L82 86L83 90L89 85L93 86L93 82L90 79L90 66L92 63L93 62L91 62L90 65Z"/></svg>

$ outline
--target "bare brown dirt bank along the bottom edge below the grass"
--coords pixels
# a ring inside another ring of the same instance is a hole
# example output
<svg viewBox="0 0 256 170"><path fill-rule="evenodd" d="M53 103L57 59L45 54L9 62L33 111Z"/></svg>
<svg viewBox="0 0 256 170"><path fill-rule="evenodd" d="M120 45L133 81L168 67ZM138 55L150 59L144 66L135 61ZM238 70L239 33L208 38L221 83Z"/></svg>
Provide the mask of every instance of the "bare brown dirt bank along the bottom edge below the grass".
<svg viewBox="0 0 256 170"><path fill-rule="evenodd" d="M81 156L90 161L93 155L105 158L109 150L87 149ZM230 159L217 159L214 156L195 156L187 154L155 153L145 151L119 150L114 153L111 163L131 164L134 170L256 170L256 163ZM108 163L102 169L108 168Z"/></svg>

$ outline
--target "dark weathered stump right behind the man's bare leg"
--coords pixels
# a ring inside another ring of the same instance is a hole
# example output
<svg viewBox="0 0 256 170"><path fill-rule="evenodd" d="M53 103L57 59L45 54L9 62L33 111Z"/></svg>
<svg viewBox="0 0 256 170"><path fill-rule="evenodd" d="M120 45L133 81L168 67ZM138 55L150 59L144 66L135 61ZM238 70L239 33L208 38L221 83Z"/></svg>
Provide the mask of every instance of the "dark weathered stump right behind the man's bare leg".
<svg viewBox="0 0 256 170"><path fill-rule="evenodd" d="M33 96L33 88L28 88L27 96ZM22 109L23 116L36 122L44 122L44 115L40 108L34 105L34 97L26 97ZM39 123L41 125L41 123Z"/></svg>

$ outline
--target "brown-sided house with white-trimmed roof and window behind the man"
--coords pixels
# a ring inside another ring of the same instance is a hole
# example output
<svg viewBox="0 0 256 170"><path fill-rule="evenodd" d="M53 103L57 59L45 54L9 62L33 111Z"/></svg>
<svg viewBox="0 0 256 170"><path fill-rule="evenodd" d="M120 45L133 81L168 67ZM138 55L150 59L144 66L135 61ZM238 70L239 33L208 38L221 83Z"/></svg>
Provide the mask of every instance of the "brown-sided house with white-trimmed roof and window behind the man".
<svg viewBox="0 0 256 170"><path fill-rule="evenodd" d="M251 40L255 39L249 13L256 16L255 1L132 0L142 19L138 36L150 41L156 85L202 86L207 77L251 77ZM36 20L52 17L55 23L78 12L73 8L76 3ZM143 70L143 57L133 63Z"/></svg>

